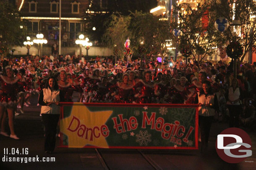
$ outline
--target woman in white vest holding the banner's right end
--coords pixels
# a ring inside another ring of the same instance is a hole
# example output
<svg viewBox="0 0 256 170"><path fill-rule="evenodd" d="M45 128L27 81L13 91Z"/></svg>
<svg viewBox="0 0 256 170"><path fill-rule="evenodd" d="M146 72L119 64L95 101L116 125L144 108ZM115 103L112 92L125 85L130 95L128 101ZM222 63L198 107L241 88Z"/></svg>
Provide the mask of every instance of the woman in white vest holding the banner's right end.
<svg viewBox="0 0 256 170"><path fill-rule="evenodd" d="M207 149L210 129L215 111L219 112L217 96L212 92L209 81L203 81L203 89L198 92L199 127L201 133L201 151ZM196 100L197 101L197 100Z"/></svg>

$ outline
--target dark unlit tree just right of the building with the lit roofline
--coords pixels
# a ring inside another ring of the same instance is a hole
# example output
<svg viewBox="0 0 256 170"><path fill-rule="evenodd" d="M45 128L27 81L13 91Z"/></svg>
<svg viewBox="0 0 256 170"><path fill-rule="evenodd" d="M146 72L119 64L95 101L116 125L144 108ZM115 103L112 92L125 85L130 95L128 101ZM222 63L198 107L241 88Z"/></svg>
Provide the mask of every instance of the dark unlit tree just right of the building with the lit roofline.
<svg viewBox="0 0 256 170"><path fill-rule="evenodd" d="M97 41L99 45L105 45L102 39L107 23L112 14L128 16L131 12L143 11L149 12L150 9L157 5L156 0L108 0L107 8L101 8L99 1L91 1L91 5L87 10L94 11L94 13L84 12L82 22L85 25L85 33L91 41ZM104 11L104 13L102 13ZM106 12L106 13L105 13ZM96 30L92 30L92 28Z"/></svg>

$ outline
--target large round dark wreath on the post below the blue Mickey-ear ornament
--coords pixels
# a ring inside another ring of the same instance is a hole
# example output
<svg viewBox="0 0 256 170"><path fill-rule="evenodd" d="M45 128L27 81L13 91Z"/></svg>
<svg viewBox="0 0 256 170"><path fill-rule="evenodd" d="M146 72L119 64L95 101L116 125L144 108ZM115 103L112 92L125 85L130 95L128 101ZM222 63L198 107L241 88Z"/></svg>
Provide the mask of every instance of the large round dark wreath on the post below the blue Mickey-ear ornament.
<svg viewBox="0 0 256 170"><path fill-rule="evenodd" d="M227 46L226 53L230 58L240 58L243 55L243 46L237 41L231 42Z"/></svg>

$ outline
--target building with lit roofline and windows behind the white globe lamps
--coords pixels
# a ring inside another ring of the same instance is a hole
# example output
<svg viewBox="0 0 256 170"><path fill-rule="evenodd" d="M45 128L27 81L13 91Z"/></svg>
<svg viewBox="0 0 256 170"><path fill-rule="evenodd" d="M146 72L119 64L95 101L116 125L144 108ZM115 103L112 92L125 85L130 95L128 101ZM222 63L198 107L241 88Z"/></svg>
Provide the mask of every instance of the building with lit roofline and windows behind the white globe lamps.
<svg viewBox="0 0 256 170"><path fill-rule="evenodd" d="M92 3L98 4L102 9L107 7L107 0L13 0L16 8L21 12L21 19L27 20L27 36L31 40L36 38L38 33L42 33L47 40L43 46L43 54L50 55L51 47L59 43L59 16L61 11L61 52L79 54L79 46L75 41L78 36L84 34L84 13L94 13L90 11ZM61 3L61 6L60 6ZM86 35L85 35L86 36ZM26 48L16 47L15 55L24 55ZM30 54L38 54L37 46L31 47ZM78 49L77 49L78 48ZM47 51L45 51L47 50ZM82 53L85 54L85 49ZM110 49L94 48L89 51L89 55L110 56Z"/></svg>

